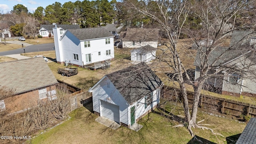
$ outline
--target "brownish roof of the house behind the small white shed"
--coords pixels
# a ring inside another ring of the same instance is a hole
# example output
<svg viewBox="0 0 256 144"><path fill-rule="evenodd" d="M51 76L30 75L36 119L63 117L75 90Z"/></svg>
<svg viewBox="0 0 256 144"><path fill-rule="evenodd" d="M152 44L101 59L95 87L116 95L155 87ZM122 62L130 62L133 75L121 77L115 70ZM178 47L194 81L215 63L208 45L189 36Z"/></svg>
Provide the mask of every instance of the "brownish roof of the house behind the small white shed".
<svg viewBox="0 0 256 144"><path fill-rule="evenodd" d="M128 28L126 34L122 34L122 36L124 41L157 41L159 30L153 28Z"/></svg>

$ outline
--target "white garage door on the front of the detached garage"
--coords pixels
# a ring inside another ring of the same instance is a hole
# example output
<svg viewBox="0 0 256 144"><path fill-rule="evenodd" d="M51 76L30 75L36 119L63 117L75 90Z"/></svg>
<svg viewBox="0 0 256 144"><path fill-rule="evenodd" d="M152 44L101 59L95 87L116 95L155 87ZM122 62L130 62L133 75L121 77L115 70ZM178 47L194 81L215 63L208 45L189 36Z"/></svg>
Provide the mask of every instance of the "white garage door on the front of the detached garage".
<svg viewBox="0 0 256 144"><path fill-rule="evenodd" d="M109 102L105 102L101 100L102 104L102 116L109 118L110 120L114 120L115 122L120 122L119 118L119 106L115 104L111 104Z"/></svg>

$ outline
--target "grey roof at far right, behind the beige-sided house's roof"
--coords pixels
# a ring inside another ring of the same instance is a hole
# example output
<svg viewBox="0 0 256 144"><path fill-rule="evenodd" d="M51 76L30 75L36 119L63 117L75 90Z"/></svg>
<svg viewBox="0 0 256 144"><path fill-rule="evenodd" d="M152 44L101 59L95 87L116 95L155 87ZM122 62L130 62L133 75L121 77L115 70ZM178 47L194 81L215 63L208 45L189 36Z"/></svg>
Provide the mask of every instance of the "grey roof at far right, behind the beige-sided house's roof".
<svg viewBox="0 0 256 144"><path fill-rule="evenodd" d="M230 40L230 46L234 46L236 44L239 45L244 45L248 44L250 42L250 34L253 34L253 31L240 31L240 30L234 30L231 35L231 40Z"/></svg>

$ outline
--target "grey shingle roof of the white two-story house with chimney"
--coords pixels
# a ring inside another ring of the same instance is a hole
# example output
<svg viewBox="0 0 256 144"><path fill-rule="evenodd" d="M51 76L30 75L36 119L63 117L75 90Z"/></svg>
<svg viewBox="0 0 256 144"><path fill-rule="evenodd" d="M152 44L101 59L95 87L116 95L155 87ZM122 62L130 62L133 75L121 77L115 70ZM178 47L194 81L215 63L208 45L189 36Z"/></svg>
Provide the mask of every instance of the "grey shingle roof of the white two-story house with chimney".
<svg viewBox="0 0 256 144"><path fill-rule="evenodd" d="M105 28L79 28L79 29L72 29L67 30L71 32L76 38L79 40L90 40L95 38L107 38L107 37L114 37L113 34L108 32Z"/></svg>

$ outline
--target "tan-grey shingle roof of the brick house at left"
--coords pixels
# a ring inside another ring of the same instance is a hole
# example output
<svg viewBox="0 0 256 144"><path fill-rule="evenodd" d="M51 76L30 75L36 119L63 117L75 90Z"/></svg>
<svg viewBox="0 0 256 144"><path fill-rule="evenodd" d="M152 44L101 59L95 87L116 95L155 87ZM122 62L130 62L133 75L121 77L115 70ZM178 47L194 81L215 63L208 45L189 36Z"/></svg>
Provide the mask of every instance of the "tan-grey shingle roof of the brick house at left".
<svg viewBox="0 0 256 144"><path fill-rule="evenodd" d="M13 88L15 94L58 83L42 57L2 62L0 67L0 86Z"/></svg>

